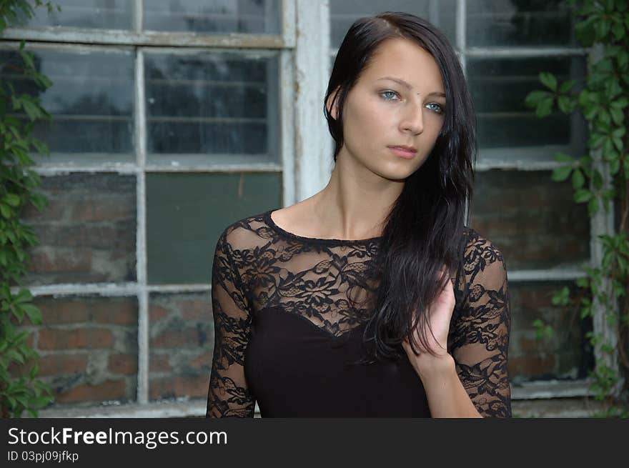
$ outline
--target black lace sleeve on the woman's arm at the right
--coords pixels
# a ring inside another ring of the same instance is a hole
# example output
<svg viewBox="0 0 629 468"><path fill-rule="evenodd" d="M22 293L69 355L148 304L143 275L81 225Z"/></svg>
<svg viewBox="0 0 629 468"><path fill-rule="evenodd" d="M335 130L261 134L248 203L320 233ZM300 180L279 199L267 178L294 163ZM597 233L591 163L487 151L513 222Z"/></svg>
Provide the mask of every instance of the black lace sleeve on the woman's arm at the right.
<svg viewBox="0 0 629 468"><path fill-rule="evenodd" d="M464 268L467 294L450 348L457 374L483 417L511 417L507 268L500 251L473 230Z"/></svg>

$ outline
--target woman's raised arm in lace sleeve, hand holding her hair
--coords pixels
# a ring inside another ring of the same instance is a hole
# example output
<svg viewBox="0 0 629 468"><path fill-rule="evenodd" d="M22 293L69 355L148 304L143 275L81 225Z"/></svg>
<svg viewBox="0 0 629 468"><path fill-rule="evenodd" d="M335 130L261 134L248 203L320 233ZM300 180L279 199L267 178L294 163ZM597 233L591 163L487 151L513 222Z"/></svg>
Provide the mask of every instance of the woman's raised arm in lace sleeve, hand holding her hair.
<svg viewBox="0 0 629 468"><path fill-rule="evenodd" d="M500 252L472 234L464 259L468 293L457 299L457 313L452 314L455 294L450 282L429 309L430 321L438 331L436 343L430 347L437 350L437 356L411 354L408 344L402 344L422 380L432 417L511 414L507 272ZM447 352L440 345L446 341Z"/></svg>

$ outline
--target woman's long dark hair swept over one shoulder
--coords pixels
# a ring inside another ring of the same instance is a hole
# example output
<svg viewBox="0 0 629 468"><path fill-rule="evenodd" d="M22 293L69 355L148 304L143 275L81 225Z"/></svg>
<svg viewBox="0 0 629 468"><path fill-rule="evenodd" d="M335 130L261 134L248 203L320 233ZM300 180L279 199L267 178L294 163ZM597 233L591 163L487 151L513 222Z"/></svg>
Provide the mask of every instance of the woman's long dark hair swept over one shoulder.
<svg viewBox="0 0 629 468"><path fill-rule="evenodd" d="M432 55L441 71L447 109L435 146L422 166L406 179L383 224L374 262L380 282L373 296L374 314L363 336L370 362L373 358L400 357L404 337L415 350L413 327L430 327L426 307L450 276L460 272L467 224L465 203L472 199L477 154L472 100L452 46L428 21L386 11L355 21L337 53L324 100L325 118L335 140L335 162L343 146L342 113L347 93L377 47L392 38L410 39ZM327 109L329 99L330 109L338 108L337 119ZM442 267L444 274L440 273ZM419 341L427 348L426 334L420 333Z"/></svg>

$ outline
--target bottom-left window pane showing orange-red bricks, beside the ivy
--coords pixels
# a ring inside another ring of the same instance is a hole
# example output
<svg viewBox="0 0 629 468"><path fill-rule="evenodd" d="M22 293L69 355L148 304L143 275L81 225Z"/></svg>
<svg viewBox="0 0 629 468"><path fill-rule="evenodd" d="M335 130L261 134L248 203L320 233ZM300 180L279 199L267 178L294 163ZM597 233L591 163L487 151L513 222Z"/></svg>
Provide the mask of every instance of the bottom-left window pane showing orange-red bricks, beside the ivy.
<svg viewBox="0 0 629 468"><path fill-rule="evenodd" d="M39 352L39 377L52 389L51 406L136 400L137 298L42 296L34 304L44 325L23 324Z"/></svg>

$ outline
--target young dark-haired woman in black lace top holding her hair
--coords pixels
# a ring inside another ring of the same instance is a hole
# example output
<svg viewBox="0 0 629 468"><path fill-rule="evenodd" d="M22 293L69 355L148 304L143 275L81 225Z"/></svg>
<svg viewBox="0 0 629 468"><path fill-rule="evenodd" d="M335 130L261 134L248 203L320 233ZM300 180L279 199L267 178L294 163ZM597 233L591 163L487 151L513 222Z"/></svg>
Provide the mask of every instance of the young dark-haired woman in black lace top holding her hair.
<svg viewBox="0 0 629 468"><path fill-rule="evenodd" d="M228 226L207 417L510 417L507 272L465 224L475 116L427 21L359 19L324 111L325 189Z"/></svg>

